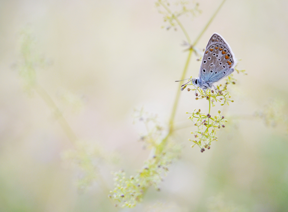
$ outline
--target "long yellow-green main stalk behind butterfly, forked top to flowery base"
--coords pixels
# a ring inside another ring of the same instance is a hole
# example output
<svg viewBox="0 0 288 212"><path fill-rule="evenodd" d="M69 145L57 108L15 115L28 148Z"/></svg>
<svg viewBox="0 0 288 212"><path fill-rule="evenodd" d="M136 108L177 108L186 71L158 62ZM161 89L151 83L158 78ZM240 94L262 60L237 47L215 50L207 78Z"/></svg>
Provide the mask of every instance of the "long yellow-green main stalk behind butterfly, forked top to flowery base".
<svg viewBox="0 0 288 212"><path fill-rule="evenodd" d="M208 26L211 24L212 20L215 18L216 14L219 12L221 6L225 1L226 0L223 0L222 3L219 5L219 7L216 9L211 19L207 22L204 29L200 32L200 35L194 41L193 45L191 45L191 40L187 31L185 30L184 26L178 19L179 14L181 15L183 13L172 12L169 9L170 4L168 3L168 1L158 0L156 2L157 7L162 6L162 9L165 10L165 12L160 11L161 14L164 14L164 21L168 21L170 27L172 26L175 28L175 26L178 25L183 31L188 41L188 45L190 46L188 49L189 52L182 72L181 80L185 78L190 63L190 59L192 56L192 52L193 51L197 52L197 49L195 49L194 46L198 43L200 37L202 37L202 35L204 34ZM196 6L198 7L198 4ZM170 29L170 27L168 26L168 29ZM113 173L115 176L114 177L115 188L110 192L108 197L120 203L119 205L121 207L134 207L138 202L140 202L143 199L146 190L151 185L153 185L156 188L156 190L159 190L159 183L162 181L163 176L167 174L168 166L172 163L173 159L177 157L177 152L179 151L180 148L179 145L176 145L176 143L174 142L173 134L175 133L176 130L174 127L174 119L177 106L179 103L180 92L181 92L181 84L179 84L179 89L177 90L166 136L163 138L162 137L163 134L157 135L157 133L155 134L156 136L154 134L149 135L149 130L147 133L148 137L146 137L145 135L141 136L143 140L146 139L148 146L152 148L151 154L148 160L144 162L143 168L140 171L138 171L137 175L130 178L126 177L124 171ZM217 99L217 101L220 100ZM225 101L225 103L228 104L228 100ZM157 130L154 132L157 132Z"/></svg>

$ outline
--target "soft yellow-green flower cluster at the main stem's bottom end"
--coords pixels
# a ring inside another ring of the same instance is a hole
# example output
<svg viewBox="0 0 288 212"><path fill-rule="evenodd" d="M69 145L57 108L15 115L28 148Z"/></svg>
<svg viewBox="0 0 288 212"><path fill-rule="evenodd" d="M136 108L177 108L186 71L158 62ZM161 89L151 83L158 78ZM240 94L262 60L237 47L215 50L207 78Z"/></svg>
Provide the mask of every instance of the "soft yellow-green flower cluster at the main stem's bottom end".
<svg viewBox="0 0 288 212"><path fill-rule="evenodd" d="M147 133L140 136L140 141L151 148L153 154L135 176L126 177L123 170L113 173L115 188L110 191L108 197L118 202L120 207L135 207L150 186L160 191L159 183L181 150L180 145L171 137L162 137L163 128L159 125L157 116L145 113L141 109L135 111L134 119L144 123Z"/></svg>

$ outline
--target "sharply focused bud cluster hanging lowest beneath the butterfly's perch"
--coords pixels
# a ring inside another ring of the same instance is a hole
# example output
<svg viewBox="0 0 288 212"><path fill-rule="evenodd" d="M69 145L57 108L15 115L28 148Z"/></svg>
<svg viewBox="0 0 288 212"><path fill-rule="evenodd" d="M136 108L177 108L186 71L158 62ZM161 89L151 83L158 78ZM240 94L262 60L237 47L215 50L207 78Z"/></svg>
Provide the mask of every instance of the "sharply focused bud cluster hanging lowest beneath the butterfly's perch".
<svg viewBox="0 0 288 212"><path fill-rule="evenodd" d="M212 141L217 141L216 132L221 128L225 127L224 123L227 122L224 119L224 116L221 116L221 111L218 110L219 115L211 117L211 115L200 113L200 109L196 111L194 109L193 113L190 113L189 119L197 126L197 130L191 132L194 135L195 140L188 139L189 141L194 142L191 147L198 145L201 149L201 152L205 151L205 148L210 149ZM188 112L186 112L188 113ZM198 141L197 141L198 139ZM204 148L205 147L205 148Z"/></svg>

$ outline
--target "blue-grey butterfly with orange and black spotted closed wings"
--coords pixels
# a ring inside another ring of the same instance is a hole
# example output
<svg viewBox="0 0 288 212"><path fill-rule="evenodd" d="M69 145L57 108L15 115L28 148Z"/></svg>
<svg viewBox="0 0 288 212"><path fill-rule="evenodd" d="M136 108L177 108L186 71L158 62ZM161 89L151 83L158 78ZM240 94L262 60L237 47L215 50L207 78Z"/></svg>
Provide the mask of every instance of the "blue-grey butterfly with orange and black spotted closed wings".
<svg viewBox="0 0 288 212"><path fill-rule="evenodd" d="M221 35L214 33L204 51L198 78L190 78L189 82L197 86L196 90L202 88L205 91L208 88L215 88L213 84L230 75L236 64L236 58L229 44Z"/></svg>

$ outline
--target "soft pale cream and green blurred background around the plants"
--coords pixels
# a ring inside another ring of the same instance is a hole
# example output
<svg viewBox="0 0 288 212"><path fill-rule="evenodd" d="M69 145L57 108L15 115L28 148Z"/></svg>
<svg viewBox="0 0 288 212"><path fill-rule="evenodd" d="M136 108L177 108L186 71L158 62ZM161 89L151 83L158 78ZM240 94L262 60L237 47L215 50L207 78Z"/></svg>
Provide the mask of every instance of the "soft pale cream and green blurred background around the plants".
<svg viewBox="0 0 288 212"><path fill-rule="evenodd" d="M181 17L192 40L220 1L199 3L197 18ZM229 116L227 127L209 151L191 149L193 127L185 112L208 107L183 91L176 121L189 127L177 132L181 159L170 166L160 192L150 188L136 208L121 209L107 198L110 172L135 174L149 155L137 141L134 108L144 106L168 123L179 85L174 81L187 57L183 33L161 29L162 15L151 0L1 0L0 211L185 212L215 205L218 211L288 211L287 125L273 128L253 116L271 99L287 101L287 10L285 0L226 1L197 47L205 48L217 32L242 59L238 68L247 70L229 87L234 103L214 110ZM113 155L98 164L105 183L77 190L78 172L61 158L73 145L46 103L25 92L17 71L23 29L46 58L37 82L79 138ZM199 66L193 55L187 77L198 76Z"/></svg>

